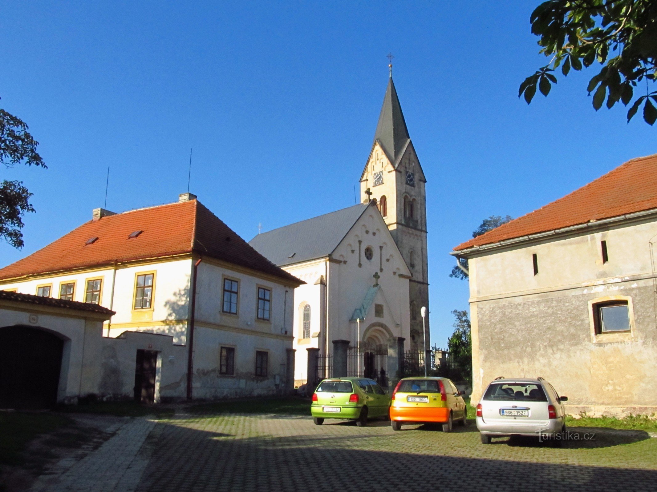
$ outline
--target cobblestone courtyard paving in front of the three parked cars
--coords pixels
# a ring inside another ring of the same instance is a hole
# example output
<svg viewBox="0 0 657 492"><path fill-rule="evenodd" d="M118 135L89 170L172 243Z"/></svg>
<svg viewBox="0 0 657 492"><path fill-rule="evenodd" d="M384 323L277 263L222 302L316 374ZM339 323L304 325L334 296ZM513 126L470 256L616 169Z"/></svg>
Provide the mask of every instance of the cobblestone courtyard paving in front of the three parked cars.
<svg viewBox="0 0 657 492"><path fill-rule="evenodd" d="M305 417L179 415L161 421L139 492L657 489L657 439L595 432L561 449L533 440L482 445L473 424L393 432ZM473 488L476 487L476 488Z"/></svg>

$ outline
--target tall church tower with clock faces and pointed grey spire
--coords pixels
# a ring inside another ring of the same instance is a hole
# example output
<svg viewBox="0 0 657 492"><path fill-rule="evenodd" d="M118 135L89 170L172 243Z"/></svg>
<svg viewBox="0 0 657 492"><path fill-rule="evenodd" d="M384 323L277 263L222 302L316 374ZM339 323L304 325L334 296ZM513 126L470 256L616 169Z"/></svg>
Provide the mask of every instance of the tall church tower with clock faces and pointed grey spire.
<svg viewBox="0 0 657 492"><path fill-rule="evenodd" d="M378 117L372 150L361 175L361 200L376 200L397 247L411 270L411 340L407 346L424 350L420 308L429 307L426 253L426 179L415 154L397 91L390 80ZM426 318L426 349L430 348Z"/></svg>

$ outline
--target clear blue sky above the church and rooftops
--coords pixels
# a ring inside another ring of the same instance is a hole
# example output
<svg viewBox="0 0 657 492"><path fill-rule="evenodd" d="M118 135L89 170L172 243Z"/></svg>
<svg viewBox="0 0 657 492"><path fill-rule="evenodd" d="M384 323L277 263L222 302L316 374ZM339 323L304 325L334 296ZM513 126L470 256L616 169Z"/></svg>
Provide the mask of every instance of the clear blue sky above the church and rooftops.
<svg viewBox="0 0 657 492"><path fill-rule="evenodd" d="M523 215L653 154L625 108L594 112L593 72L528 106L544 63L535 1L18 2L0 17L0 105L24 119L49 169L24 180L37 211L28 255L102 207L175 201L187 189L238 234L353 204L388 79L388 52L427 176L432 341L445 346L466 281L447 253L483 218Z"/></svg>

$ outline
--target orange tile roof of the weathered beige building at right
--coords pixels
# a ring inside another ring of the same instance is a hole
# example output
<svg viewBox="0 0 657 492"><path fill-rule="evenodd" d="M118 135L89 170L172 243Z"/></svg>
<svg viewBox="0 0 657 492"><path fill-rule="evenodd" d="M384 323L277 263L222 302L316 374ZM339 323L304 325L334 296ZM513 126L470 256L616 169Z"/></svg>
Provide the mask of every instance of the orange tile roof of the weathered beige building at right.
<svg viewBox="0 0 657 492"><path fill-rule="evenodd" d="M657 209L657 154L631 159L545 207L461 243L454 251L650 209Z"/></svg>

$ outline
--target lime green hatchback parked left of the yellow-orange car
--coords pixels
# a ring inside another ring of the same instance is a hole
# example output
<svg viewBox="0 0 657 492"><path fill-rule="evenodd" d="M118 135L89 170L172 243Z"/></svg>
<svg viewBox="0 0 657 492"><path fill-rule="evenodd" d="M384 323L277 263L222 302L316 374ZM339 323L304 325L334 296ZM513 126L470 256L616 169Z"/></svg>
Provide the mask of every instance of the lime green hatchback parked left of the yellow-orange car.
<svg viewBox="0 0 657 492"><path fill-rule="evenodd" d="M370 417L388 418L390 396L366 378L331 378L319 383L313 393L310 413L315 425L324 419L356 420L359 427L367 424Z"/></svg>

